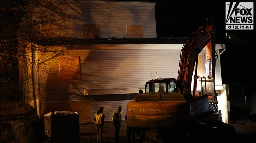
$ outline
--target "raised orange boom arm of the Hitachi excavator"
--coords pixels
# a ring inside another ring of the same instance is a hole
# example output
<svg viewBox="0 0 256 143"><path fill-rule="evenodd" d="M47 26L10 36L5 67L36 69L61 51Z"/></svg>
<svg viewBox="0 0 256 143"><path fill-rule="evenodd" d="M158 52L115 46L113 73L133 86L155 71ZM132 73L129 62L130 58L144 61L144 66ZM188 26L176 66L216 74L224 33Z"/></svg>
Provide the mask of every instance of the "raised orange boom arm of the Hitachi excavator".
<svg viewBox="0 0 256 143"><path fill-rule="evenodd" d="M178 73L178 87L182 92L191 91L191 82L194 71L194 66L196 64L198 54L205 48L206 59L211 60L211 63L215 63L215 43L214 43L214 26L213 21L210 19L205 26L201 26L197 32L193 32L191 36L187 39L181 50L181 58ZM215 69L215 66L210 68L210 73ZM197 68L196 68L197 71ZM197 72L195 73L195 80L197 80ZM208 74L207 74L208 75ZM213 77L214 75L209 75ZM197 86L194 84L194 86ZM195 88L194 88L195 90Z"/></svg>

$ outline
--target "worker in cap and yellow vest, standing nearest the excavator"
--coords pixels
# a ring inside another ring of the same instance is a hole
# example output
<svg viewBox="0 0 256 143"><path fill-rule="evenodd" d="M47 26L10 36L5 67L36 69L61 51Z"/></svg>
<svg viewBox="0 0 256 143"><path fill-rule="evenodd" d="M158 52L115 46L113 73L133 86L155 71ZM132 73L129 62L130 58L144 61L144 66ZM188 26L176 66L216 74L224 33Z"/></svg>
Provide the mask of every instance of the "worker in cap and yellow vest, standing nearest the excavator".
<svg viewBox="0 0 256 143"><path fill-rule="evenodd" d="M112 121L113 121L114 127L115 127L115 141L116 141L116 143L119 142L120 126L121 126L121 122L122 122L122 115L120 113L121 111L122 111L122 106L118 105L117 110L114 112L113 117L112 117Z"/></svg>

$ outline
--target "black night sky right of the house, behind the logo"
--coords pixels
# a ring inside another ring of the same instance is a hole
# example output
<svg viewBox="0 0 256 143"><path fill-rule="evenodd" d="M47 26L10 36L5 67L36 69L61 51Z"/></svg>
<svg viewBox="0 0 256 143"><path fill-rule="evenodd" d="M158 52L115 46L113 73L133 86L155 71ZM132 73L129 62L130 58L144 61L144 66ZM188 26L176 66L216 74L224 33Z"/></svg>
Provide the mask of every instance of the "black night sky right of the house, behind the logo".
<svg viewBox="0 0 256 143"><path fill-rule="evenodd" d="M225 30L225 1L206 3L202 0L156 0L155 2L157 37L188 37L191 32L197 31L208 17L213 17L216 44L226 45L226 50L220 56L222 84L229 84L230 94L242 93L253 96L256 93L255 18L254 30ZM254 1L254 15L255 3ZM226 33L241 35L244 39L239 43L229 44L225 40Z"/></svg>

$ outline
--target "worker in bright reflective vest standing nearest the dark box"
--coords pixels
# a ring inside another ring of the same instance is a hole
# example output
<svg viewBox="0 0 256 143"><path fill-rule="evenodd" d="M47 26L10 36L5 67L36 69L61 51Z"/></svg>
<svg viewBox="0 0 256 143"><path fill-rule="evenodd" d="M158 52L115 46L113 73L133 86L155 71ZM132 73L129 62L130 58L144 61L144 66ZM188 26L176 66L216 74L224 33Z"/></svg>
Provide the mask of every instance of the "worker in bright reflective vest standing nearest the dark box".
<svg viewBox="0 0 256 143"><path fill-rule="evenodd" d="M104 107L100 107L99 111L97 111L97 113L95 113L94 115L94 123L96 126L96 131L97 131L97 143L102 143L103 139L103 126L104 126L104 118L105 115L102 113L103 112Z"/></svg>

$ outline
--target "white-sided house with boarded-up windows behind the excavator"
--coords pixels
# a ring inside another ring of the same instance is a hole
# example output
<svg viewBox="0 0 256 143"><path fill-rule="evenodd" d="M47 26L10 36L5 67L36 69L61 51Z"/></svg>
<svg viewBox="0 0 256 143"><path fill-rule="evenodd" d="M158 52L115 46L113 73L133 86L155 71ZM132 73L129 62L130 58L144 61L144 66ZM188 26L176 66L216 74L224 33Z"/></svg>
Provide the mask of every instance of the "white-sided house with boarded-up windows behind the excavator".
<svg viewBox="0 0 256 143"><path fill-rule="evenodd" d="M157 38L155 5L83 0L67 4L65 11L79 19L37 27L47 34L45 40L20 39L24 44L19 54L26 55L19 59L24 102L40 118L51 110L78 112L80 123L93 122L98 108L104 107L105 121L110 121L117 105L125 115L126 103L145 88L146 81L177 78L186 38ZM69 38L55 42L62 36ZM219 58L224 47L216 44L215 85L223 121L228 123L229 92L228 85L222 85ZM200 57L198 67L204 69L203 51Z"/></svg>

